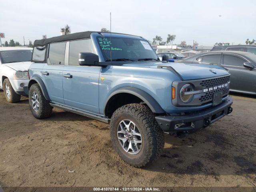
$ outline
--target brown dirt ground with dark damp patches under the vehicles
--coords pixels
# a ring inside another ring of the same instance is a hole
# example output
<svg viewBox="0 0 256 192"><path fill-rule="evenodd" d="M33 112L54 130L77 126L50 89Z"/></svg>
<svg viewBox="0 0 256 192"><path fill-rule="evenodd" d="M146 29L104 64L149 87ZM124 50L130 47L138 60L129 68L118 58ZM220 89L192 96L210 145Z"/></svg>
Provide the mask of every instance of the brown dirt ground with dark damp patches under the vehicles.
<svg viewBox="0 0 256 192"><path fill-rule="evenodd" d="M256 97L233 98L232 114L185 138L166 135L160 158L134 168L113 150L108 124L56 108L37 120L27 98L10 104L0 91L0 185L255 187Z"/></svg>

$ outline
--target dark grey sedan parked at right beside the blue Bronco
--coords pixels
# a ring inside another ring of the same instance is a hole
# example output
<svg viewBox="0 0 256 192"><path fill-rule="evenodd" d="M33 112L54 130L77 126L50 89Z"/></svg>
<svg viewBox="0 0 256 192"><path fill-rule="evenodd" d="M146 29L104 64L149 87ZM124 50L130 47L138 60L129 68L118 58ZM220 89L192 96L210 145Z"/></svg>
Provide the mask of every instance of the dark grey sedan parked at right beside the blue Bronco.
<svg viewBox="0 0 256 192"><path fill-rule="evenodd" d="M231 74L230 91L256 95L255 54L241 51L211 51L186 58L181 62L222 66Z"/></svg>

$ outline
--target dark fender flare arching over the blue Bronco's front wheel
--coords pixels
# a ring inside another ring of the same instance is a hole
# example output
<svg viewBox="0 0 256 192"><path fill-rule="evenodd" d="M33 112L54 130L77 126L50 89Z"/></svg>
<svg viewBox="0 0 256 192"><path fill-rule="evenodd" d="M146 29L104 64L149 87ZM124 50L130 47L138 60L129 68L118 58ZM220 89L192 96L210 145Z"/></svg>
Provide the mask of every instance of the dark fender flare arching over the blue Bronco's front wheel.
<svg viewBox="0 0 256 192"><path fill-rule="evenodd" d="M147 92L135 88L135 87L123 87L123 88L119 88L117 90L115 90L114 92L112 92L110 94L110 96L108 96L107 98L107 102L104 106L104 112L106 110L106 106L108 101L110 100L110 98L112 98L112 96L119 94L119 93L129 93L132 94L134 96L137 96L138 98L140 98L143 102L145 102L145 104L147 104L147 106L150 108L150 110L153 113L165 113L165 111L162 109L162 107L158 104L158 102Z"/></svg>

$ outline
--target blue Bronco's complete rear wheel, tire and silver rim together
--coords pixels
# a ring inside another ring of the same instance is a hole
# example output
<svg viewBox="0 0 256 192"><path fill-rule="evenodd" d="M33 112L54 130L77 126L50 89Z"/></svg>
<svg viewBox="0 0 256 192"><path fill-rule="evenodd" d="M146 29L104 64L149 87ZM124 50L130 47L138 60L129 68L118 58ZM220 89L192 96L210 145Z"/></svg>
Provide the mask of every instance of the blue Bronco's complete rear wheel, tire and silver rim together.
<svg viewBox="0 0 256 192"><path fill-rule="evenodd" d="M52 114L50 102L44 98L38 84L32 84L28 94L29 106L33 116L37 119L48 118Z"/></svg>

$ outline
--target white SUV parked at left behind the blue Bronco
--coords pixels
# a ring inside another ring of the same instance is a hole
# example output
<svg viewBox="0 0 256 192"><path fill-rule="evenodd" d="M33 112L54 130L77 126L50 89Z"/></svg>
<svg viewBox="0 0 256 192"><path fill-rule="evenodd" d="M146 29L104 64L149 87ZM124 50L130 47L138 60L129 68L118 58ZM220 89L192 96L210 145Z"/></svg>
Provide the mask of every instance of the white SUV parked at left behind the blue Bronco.
<svg viewBox="0 0 256 192"><path fill-rule="evenodd" d="M25 94L31 57L32 48L0 47L0 88L10 103L18 102Z"/></svg>

